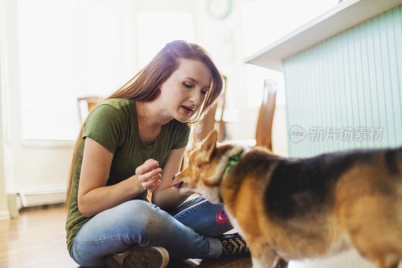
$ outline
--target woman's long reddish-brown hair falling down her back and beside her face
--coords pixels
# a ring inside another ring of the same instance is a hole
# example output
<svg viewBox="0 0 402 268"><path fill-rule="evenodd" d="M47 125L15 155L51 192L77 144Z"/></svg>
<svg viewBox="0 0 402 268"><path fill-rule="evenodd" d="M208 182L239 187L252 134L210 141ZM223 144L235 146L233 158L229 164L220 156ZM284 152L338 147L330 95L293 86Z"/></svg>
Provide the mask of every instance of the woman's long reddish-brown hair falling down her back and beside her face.
<svg viewBox="0 0 402 268"><path fill-rule="evenodd" d="M176 40L167 43L155 57L141 69L133 78L124 84L118 91L110 94L109 96L97 101L90 109L89 113L99 106L102 102L108 99L129 99L132 98L138 101L151 101L158 93L158 86L178 68L179 59L194 59L204 62L212 71L211 88L208 91L205 100L197 111L187 122L188 124L196 124L193 130L193 142L195 144L196 131L199 129L200 119L203 115L208 113L209 109L218 100L222 91L223 81L221 73L215 66L211 56L208 52L197 44L187 43L186 41ZM86 118L85 118L86 120ZM84 120L84 122L85 122ZM74 177L74 172L77 164L78 147L84 140L81 138L83 131L83 124L79 131L77 140L75 141L74 151L68 171L68 185L65 207L67 208L68 198L70 196L71 185ZM185 155L188 155L188 150Z"/></svg>

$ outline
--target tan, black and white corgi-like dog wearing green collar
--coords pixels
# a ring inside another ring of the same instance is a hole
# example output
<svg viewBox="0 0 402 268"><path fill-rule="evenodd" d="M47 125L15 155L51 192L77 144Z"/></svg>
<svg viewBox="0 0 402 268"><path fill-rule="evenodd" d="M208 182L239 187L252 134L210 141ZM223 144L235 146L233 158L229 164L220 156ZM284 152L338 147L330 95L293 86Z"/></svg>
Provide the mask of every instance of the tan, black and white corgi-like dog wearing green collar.
<svg viewBox="0 0 402 268"><path fill-rule="evenodd" d="M173 185L224 205L253 267L287 266L291 259L351 247L378 268L397 267L402 147L286 158L263 147L217 145L217 134L212 131L190 154Z"/></svg>

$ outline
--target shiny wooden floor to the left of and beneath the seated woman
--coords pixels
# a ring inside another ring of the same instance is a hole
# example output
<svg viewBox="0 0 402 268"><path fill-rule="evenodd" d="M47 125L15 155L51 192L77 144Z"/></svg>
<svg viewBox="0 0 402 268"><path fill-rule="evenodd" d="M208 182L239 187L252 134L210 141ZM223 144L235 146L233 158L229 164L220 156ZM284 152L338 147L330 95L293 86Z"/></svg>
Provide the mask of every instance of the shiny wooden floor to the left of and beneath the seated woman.
<svg viewBox="0 0 402 268"><path fill-rule="evenodd" d="M68 254L66 215L61 205L25 208L20 217L0 221L0 267L81 267ZM217 261L171 260L179 267L251 267L250 258Z"/></svg>

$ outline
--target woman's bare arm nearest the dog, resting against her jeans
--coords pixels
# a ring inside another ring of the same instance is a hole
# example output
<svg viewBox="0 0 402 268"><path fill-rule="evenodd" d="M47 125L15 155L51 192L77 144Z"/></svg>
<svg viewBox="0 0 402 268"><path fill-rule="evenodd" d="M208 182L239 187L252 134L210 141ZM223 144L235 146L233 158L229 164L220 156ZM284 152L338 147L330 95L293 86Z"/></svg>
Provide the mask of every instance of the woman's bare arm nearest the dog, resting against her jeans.
<svg viewBox="0 0 402 268"><path fill-rule="evenodd" d="M152 193L152 203L163 210L173 209L183 203L190 195L181 195L173 187L173 176L180 170L185 147L170 150L162 169L161 183Z"/></svg>

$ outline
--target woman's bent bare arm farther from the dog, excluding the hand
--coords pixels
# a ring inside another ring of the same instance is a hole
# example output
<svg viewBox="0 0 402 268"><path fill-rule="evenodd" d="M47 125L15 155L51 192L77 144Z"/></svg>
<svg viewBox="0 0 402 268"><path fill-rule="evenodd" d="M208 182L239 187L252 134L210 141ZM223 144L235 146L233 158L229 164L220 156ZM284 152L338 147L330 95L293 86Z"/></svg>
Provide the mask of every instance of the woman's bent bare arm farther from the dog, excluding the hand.
<svg viewBox="0 0 402 268"><path fill-rule="evenodd" d="M78 209L85 217L120 205L144 191L137 175L116 185L106 186L113 155L96 141L85 138L78 186Z"/></svg>

